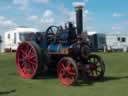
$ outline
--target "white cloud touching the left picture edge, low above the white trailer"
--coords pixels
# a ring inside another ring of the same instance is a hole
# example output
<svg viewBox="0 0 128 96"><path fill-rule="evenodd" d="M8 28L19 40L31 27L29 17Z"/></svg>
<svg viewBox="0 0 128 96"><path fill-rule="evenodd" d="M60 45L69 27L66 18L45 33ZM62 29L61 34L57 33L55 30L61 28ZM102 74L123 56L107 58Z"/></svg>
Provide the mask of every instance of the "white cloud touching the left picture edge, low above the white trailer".
<svg viewBox="0 0 128 96"><path fill-rule="evenodd" d="M17 24L12 21L7 19L4 16L0 16L0 28L1 29L10 29L10 28L15 28L17 26Z"/></svg>

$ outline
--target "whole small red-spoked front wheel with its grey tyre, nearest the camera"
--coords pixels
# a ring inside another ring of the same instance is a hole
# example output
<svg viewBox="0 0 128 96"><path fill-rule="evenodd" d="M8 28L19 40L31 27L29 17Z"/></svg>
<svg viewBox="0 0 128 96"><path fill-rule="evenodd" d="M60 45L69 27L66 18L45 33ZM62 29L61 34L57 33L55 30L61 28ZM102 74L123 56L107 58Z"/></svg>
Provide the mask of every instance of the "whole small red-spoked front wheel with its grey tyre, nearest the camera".
<svg viewBox="0 0 128 96"><path fill-rule="evenodd" d="M75 61L70 57L62 58L57 66L59 80L64 85L73 85L78 78L78 68Z"/></svg>

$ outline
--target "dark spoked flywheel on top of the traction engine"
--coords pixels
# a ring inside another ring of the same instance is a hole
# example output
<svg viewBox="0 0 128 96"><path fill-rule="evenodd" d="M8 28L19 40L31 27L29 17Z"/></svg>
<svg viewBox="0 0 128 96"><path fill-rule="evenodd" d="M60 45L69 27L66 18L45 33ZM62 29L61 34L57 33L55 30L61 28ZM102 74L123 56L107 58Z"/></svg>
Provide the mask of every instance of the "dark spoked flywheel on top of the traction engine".
<svg viewBox="0 0 128 96"><path fill-rule="evenodd" d="M58 26L50 26L48 27L48 29L46 30L46 38L48 42L54 42L56 40L56 34L59 31L59 27Z"/></svg>

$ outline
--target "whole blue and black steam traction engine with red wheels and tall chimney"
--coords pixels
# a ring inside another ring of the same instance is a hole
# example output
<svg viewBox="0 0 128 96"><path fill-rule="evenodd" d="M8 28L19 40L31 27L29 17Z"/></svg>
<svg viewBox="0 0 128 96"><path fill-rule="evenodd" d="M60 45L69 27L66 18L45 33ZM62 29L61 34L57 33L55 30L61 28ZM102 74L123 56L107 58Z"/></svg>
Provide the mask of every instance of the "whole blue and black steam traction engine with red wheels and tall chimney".
<svg viewBox="0 0 128 96"><path fill-rule="evenodd" d="M91 54L86 33L83 32L83 6L76 9L76 26L69 22L50 26L37 32L30 41L21 43L16 52L16 66L23 78L33 79L41 73L56 69L64 85L73 85L78 76L87 80L101 79L105 65L101 57Z"/></svg>

